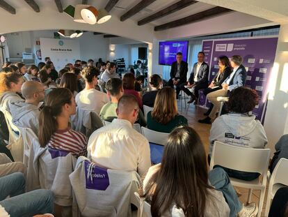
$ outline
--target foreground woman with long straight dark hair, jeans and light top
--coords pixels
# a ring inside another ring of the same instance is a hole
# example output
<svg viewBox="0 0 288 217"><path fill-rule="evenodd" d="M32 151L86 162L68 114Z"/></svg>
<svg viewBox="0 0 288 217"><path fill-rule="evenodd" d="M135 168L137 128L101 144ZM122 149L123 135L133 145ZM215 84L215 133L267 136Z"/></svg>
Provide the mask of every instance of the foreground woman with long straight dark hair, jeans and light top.
<svg viewBox="0 0 288 217"><path fill-rule="evenodd" d="M224 170L207 171L200 137L188 126L170 133L161 164L150 167L143 181L143 197L151 202L152 216L257 214L255 203L241 204Z"/></svg>

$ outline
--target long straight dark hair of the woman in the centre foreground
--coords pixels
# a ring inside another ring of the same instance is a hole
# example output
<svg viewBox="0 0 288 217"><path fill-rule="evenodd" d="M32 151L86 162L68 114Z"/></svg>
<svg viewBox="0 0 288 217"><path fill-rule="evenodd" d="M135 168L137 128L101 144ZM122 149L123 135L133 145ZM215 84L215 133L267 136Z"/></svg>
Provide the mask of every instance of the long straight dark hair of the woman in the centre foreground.
<svg viewBox="0 0 288 217"><path fill-rule="evenodd" d="M203 217L209 188L206 155L199 135L188 126L175 128L168 137L161 166L145 189L144 196L152 197L152 216L161 216L175 204L185 216Z"/></svg>

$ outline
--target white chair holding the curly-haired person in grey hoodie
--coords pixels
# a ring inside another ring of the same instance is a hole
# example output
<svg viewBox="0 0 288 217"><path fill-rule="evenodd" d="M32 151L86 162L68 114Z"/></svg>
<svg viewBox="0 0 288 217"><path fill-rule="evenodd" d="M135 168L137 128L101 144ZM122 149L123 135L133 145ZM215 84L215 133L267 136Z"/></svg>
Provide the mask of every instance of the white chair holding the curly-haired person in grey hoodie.
<svg viewBox="0 0 288 217"><path fill-rule="evenodd" d="M258 172L259 174L262 174L262 179L258 177L253 181L243 181L241 179L230 178L233 186L250 189L248 203L250 203L253 189L261 191L258 212L258 216L261 216L266 190L269 158L270 149L236 147L216 141L214 142L214 147L212 150L210 170L213 169L214 165L221 165L232 170Z"/></svg>

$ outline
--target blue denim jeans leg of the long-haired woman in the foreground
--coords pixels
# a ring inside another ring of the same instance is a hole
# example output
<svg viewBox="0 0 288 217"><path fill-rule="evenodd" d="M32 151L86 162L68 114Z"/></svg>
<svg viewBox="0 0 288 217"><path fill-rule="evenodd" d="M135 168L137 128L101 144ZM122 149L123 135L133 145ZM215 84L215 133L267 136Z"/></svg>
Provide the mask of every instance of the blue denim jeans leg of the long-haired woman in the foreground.
<svg viewBox="0 0 288 217"><path fill-rule="evenodd" d="M227 173L222 168L217 167L208 173L208 177L211 185L223 193L225 201L230 208L230 217L237 216L243 205L239 201Z"/></svg>

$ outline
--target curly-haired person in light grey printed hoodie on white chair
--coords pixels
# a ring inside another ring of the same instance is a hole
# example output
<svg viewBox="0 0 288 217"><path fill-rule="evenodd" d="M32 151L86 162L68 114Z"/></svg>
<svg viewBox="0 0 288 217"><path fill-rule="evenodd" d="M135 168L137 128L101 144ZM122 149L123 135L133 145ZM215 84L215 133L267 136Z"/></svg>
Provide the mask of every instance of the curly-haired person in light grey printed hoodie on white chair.
<svg viewBox="0 0 288 217"><path fill-rule="evenodd" d="M260 121L255 120L252 111L258 104L259 96L255 90L239 87L231 91L227 103L229 113L215 119L209 136L209 157L215 141L238 147L263 149L267 137ZM253 180L259 173L241 172L225 169L230 177Z"/></svg>

